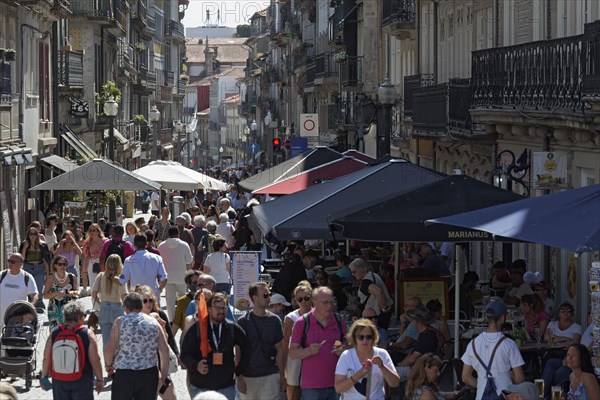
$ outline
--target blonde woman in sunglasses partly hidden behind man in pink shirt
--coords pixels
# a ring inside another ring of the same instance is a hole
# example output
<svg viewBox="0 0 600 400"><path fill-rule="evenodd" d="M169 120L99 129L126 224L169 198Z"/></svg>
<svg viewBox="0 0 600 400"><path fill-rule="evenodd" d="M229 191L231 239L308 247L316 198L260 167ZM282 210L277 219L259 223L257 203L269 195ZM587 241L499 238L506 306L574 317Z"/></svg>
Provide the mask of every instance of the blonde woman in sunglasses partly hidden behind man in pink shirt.
<svg viewBox="0 0 600 400"><path fill-rule="evenodd" d="M287 351L292 338L292 329L294 323L302 315L309 312L312 308L311 298L312 288L310 282L300 281L298 286L292 292L292 305L296 308L283 319L283 359L285 364L285 380L287 383L287 398L288 400L300 400L302 389L300 388L300 369L302 368L302 360L293 360L287 357Z"/></svg>

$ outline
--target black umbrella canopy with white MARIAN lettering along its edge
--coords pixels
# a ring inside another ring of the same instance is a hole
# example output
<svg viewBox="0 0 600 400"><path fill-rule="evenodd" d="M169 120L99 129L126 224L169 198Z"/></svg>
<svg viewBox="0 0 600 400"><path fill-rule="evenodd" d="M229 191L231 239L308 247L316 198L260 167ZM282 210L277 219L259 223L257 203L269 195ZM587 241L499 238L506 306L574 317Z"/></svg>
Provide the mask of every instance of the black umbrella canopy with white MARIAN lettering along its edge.
<svg viewBox="0 0 600 400"><path fill-rule="evenodd" d="M352 213L332 222L345 238L371 241L465 242L493 240L487 232L448 225L425 224L438 216L453 215L491 205L513 202L523 196L464 175L449 176L387 199L374 198Z"/></svg>

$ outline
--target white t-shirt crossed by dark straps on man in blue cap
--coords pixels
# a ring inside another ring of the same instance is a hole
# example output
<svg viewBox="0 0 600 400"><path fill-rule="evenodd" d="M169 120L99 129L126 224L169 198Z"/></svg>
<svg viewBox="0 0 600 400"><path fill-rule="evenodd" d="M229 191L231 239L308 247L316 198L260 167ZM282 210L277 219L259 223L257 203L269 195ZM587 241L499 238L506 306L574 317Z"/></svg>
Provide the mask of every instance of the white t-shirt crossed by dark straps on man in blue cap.
<svg viewBox="0 0 600 400"><path fill-rule="evenodd" d="M477 354L479 354L479 357L484 363L489 363L492 352L494 351L494 347L502 336L502 332L483 332L481 335L477 336L471 341L475 342ZM485 390L485 385L487 384L486 372L485 367L481 365L477 357L475 357L475 353L473 353L473 345L471 343L467 345L467 350L465 351L465 354L463 354L461 360L466 365L472 366L473 369L477 371L476 399L481 400L483 391ZM496 392L498 395L500 395L502 390L507 389L508 385L512 383L510 377L511 369L520 367L523 364L525 364L525 362L523 361L523 357L521 356L516 343L512 339L504 339L504 341L500 343L500 346L498 346L498 350L496 350L496 355L494 355L494 360L491 367L491 373L494 377Z"/></svg>

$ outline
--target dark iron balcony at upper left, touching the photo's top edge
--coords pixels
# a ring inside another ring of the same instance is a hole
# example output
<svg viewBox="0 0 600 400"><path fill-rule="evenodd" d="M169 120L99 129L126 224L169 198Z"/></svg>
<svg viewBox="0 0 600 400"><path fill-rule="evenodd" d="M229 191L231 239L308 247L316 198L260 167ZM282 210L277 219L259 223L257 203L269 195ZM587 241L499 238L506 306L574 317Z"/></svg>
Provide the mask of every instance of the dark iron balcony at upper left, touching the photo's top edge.
<svg viewBox="0 0 600 400"><path fill-rule="evenodd" d="M127 32L127 3L125 0L89 1L71 0L74 17L85 17L106 25L115 36L125 36Z"/></svg>

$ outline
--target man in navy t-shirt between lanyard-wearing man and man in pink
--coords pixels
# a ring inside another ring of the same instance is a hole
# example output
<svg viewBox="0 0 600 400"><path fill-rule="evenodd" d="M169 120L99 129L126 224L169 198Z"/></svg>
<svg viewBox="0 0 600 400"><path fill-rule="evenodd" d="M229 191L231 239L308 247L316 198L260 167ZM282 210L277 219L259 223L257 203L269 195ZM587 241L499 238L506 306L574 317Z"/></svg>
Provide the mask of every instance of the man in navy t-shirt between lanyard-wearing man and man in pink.
<svg viewBox="0 0 600 400"><path fill-rule="evenodd" d="M238 390L242 400L278 400L286 390L283 327L279 317L267 310L271 292L265 282L250 285L248 294L254 307L238 323L246 332L250 354L240 368Z"/></svg>

